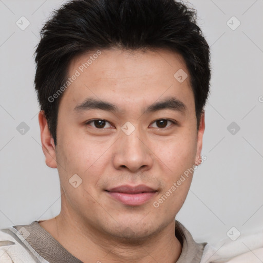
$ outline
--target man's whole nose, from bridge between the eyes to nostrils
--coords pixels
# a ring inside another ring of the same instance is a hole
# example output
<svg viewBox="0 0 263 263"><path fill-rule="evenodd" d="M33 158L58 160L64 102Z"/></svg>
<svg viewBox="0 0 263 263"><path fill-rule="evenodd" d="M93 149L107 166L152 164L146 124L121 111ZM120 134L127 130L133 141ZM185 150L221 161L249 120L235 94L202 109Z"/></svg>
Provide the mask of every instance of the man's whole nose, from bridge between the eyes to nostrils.
<svg viewBox="0 0 263 263"><path fill-rule="evenodd" d="M122 126L117 144L114 165L116 168L126 166L130 171L137 171L142 166L151 166L151 151L143 141L143 130L131 123Z"/></svg>

